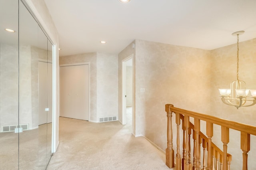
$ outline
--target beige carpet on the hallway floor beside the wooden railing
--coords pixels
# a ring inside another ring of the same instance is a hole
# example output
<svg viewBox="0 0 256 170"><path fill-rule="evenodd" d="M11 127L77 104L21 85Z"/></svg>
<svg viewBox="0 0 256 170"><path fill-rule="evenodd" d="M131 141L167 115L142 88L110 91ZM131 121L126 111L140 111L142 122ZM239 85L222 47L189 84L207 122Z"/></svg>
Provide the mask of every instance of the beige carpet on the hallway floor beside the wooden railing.
<svg viewBox="0 0 256 170"><path fill-rule="evenodd" d="M60 144L48 170L169 170L165 154L131 126L60 117Z"/></svg>

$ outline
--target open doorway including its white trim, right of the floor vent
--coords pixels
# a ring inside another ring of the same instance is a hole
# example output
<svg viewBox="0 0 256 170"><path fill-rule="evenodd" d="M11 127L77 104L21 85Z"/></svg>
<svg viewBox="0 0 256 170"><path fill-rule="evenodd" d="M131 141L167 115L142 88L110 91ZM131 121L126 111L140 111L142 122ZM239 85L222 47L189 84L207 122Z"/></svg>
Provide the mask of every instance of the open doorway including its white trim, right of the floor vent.
<svg viewBox="0 0 256 170"><path fill-rule="evenodd" d="M122 60L122 125L134 134L133 111L133 54Z"/></svg>

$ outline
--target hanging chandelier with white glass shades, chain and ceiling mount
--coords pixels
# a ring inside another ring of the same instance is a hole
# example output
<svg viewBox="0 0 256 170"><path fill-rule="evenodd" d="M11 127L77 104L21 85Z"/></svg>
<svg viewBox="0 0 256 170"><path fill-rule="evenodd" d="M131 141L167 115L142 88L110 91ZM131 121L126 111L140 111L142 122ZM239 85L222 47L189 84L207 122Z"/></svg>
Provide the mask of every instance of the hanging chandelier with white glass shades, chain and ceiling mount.
<svg viewBox="0 0 256 170"><path fill-rule="evenodd" d="M230 83L230 89L219 89L222 102L226 105L239 107L248 107L256 104L256 89L246 89L246 83L238 79L239 70L239 34L244 31L234 32L232 35L237 36L237 69L236 81Z"/></svg>

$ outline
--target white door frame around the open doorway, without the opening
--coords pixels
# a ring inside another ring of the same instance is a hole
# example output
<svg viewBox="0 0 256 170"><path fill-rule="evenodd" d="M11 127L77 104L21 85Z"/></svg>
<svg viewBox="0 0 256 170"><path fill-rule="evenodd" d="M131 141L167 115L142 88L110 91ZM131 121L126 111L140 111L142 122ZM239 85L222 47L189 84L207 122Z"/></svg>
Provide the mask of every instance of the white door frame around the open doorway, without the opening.
<svg viewBox="0 0 256 170"><path fill-rule="evenodd" d="M132 134L134 134L134 57L133 54L122 59L122 125L126 125L126 61L132 59Z"/></svg>

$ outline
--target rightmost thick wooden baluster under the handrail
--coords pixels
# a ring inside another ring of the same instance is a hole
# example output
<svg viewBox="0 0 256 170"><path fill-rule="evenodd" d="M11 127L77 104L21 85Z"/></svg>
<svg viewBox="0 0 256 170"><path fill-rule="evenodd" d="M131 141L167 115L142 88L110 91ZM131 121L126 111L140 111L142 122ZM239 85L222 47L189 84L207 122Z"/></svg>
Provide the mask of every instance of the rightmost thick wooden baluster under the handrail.
<svg viewBox="0 0 256 170"><path fill-rule="evenodd" d="M241 149L243 151L243 170L247 170L247 153L250 151L250 134L246 132L241 132Z"/></svg>

